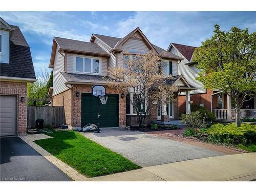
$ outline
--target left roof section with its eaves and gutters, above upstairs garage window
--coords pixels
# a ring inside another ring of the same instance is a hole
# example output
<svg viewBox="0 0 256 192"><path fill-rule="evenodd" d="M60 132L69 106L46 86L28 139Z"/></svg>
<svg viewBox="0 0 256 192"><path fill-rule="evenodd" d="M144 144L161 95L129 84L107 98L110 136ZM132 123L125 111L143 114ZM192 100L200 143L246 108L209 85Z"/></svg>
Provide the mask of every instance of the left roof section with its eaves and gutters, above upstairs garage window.
<svg viewBox="0 0 256 192"><path fill-rule="evenodd" d="M71 53L89 54L95 56L109 57L110 54L105 52L101 47L99 47L94 42L86 42L80 40L73 40L61 37L53 37L52 53L50 59L49 68L53 68L55 52L59 46L58 51L66 51Z"/></svg>

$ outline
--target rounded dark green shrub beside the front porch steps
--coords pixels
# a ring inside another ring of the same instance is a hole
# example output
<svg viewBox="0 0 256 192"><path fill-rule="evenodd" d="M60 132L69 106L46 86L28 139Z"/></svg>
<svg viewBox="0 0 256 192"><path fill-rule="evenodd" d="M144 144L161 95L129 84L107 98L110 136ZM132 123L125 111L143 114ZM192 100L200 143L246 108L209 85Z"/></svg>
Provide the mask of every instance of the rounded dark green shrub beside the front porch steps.
<svg viewBox="0 0 256 192"><path fill-rule="evenodd" d="M185 123L190 129L201 129L206 127L206 115L202 115L199 111L191 112L191 114L182 114L181 122Z"/></svg>

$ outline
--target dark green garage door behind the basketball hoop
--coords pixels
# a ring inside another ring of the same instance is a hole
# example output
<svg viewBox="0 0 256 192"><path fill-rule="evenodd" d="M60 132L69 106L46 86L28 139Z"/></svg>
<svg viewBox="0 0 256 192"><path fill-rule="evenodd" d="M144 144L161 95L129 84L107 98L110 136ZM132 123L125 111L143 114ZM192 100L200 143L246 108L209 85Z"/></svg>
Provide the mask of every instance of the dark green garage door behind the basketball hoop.
<svg viewBox="0 0 256 192"><path fill-rule="evenodd" d="M82 93L82 126L88 123L99 124L99 127L116 127L118 122L118 95L106 94L108 101L101 104L98 97Z"/></svg>

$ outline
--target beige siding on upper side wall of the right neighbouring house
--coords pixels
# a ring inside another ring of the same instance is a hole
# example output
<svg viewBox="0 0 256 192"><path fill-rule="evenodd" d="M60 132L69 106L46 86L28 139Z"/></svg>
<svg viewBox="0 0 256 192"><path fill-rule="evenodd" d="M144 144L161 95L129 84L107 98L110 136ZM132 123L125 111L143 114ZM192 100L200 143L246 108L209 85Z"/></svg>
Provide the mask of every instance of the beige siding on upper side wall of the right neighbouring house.
<svg viewBox="0 0 256 192"><path fill-rule="evenodd" d="M178 55L179 57L184 58L178 65L178 73L183 75L183 77L187 80L189 84L195 86L199 90L191 91L191 94L197 93L205 93L205 89L203 88L203 84L196 80L198 77L198 73L201 71L195 65L187 66L185 63L189 62L178 50L172 48L170 50L171 53ZM182 92L180 95L185 95L185 92Z"/></svg>

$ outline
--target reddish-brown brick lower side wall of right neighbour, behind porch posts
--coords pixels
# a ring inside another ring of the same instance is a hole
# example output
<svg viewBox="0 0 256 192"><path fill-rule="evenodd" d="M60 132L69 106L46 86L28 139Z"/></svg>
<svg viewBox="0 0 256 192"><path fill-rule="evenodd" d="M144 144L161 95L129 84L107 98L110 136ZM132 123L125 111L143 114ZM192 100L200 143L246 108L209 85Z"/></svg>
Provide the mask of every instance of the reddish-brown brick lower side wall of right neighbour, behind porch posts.
<svg viewBox="0 0 256 192"><path fill-rule="evenodd" d="M204 104L204 107L209 111L211 110L210 106L210 96L214 93L213 91L207 89L206 93L201 94L190 94L190 100L193 101L193 104L200 105ZM179 96L179 115L186 113L186 95Z"/></svg>

